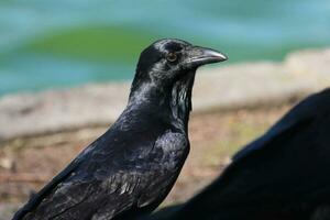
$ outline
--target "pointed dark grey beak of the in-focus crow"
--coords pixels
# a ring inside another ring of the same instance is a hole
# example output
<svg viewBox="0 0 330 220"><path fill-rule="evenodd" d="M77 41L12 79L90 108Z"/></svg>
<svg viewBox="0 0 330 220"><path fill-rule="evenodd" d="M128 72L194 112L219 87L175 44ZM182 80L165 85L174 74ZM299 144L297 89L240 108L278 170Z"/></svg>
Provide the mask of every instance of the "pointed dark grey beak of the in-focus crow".
<svg viewBox="0 0 330 220"><path fill-rule="evenodd" d="M187 65L189 67L198 67L205 64L224 62L227 59L224 54L215 50L193 46L188 50Z"/></svg>

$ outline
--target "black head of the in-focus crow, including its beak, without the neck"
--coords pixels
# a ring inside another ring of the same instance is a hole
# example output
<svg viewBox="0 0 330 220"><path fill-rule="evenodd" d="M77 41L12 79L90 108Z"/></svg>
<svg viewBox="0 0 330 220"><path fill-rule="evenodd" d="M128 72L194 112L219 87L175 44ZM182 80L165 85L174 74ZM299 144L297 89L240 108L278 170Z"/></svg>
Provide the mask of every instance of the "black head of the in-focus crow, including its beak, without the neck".
<svg viewBox="0 0 330 220"><path fill-rule="evenodd" d="M165 38L153 43L141 53L136 76L167 86L201 65L226 59L223 54L213 50L194 46L180 40Z"/></svg>

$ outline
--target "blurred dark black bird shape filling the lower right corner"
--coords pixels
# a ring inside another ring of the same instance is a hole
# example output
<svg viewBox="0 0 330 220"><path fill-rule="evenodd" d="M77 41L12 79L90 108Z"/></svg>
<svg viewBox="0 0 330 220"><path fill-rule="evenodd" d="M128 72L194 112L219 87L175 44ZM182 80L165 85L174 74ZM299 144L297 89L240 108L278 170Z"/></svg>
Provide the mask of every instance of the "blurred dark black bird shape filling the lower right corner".
<svg viewBox="0 0 330 220"><path fill-rule="evenodd" d="M329 220L330 89L294 107L218 179L152 220Z"/></svg>

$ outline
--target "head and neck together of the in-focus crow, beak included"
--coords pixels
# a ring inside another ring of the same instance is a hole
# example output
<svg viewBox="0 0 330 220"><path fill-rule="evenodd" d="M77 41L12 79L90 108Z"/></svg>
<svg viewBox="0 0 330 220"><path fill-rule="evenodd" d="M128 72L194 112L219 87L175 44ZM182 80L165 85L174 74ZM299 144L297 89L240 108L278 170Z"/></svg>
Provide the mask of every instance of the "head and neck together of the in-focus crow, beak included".
<svg viewBox="0 0 330 220"><path fill-rule="evenodd" d="M217 51L194 46L185 41L160 40L141 53L130 102L170 107L174 117L186 123L191 109L196 69L226 59Z"/></svg>

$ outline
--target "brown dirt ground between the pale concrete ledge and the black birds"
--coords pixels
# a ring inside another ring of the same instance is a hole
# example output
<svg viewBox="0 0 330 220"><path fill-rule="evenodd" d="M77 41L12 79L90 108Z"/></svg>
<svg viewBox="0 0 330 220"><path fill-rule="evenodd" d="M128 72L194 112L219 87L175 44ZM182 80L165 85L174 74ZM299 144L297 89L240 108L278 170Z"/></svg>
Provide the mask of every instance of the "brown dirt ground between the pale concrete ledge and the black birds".
<svg viewBox="0 0 330 220"><path fill-rule="evenodd" d="M234 152L262 134L289 106L193 116L190 154L162 206L185 201L208 185ZM0 143L0 219L9 219L31 193L40 189L106 129L87 128Z"/></svg>

